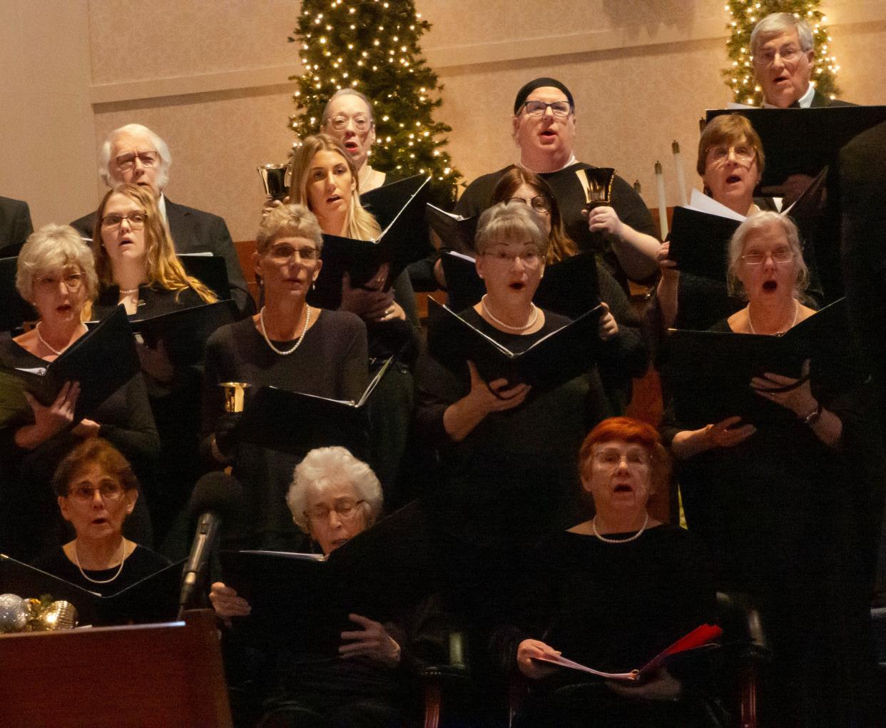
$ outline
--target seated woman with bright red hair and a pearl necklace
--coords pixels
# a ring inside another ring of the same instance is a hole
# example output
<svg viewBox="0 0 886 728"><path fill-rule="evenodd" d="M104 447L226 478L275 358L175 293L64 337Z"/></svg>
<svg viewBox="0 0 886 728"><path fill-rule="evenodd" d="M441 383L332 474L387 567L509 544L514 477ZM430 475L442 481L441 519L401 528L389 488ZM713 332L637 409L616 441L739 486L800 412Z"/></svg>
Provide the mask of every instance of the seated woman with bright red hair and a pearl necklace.
<svg viewBox="0 0 886 728"><path fill-rule="evenodd" d="M602 682L540 659L563 654L594 669L629 672L704 622L715 595L692 536L653 518L649 496L670 458L656 430L604 419L579 450L595 516L539 544L514 626L495 643L508 669L532 681L519 725L704 724L692 677L662 668L640 685Z"/></svg>

